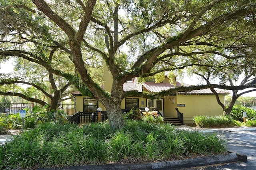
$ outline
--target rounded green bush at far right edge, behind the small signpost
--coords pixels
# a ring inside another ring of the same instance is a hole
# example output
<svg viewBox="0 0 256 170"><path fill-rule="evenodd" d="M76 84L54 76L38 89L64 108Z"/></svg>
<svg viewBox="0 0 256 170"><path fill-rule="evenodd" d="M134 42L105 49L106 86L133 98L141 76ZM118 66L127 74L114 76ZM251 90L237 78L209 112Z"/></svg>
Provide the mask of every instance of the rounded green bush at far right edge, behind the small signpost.
<svg viewBox="0 0 256 170"><path fill-rule="evenodd" d="M247 120L256 120L256 111L242 105L234 106L232 108L230 116L237 121L243 122L243 112L247 112Z"/></svg>

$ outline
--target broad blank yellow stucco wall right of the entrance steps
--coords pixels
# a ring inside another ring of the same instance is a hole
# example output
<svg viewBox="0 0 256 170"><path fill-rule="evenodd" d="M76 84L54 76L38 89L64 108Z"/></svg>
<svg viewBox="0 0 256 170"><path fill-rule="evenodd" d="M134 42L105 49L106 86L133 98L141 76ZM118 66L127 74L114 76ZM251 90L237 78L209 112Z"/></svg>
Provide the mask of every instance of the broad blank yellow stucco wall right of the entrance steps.
<svg viewBox="0 0 256 170"><path fill-rule="evenodd" d="M224 102L224 95L219 95L220 101ZM178 107L185 104L185 107ZM196 115L218 116L222 114L222 107L218 105L214 95L177 95L176 107L184 116L184 123L193 123Z"/></svg>

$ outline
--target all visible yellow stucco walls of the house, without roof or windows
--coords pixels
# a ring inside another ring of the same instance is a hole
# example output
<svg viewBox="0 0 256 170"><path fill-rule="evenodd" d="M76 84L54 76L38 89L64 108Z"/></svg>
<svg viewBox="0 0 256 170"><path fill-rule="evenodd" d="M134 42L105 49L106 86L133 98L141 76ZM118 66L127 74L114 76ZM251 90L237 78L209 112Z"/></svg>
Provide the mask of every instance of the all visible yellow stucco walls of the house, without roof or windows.
<svg viewBox="0 0 256 170"><path fill-rule="evenodd" d="M224 95L219 95L220 101L224 102ZM76 111L83 111L84 96L76 96ZM146 99L141 97L129 97L130 99L139 99L139 107L146 107ZM170 99L170 100L169 100ZM174 103L172 103L174 99ZM193 117L196 115L218 116L222 114L222 108L218 105L214 95L184 95L166 96L164 100L164 116L177 117L178 108L184 114L184 123L193 123ZM142 102L143 101L143 102ZM178 104L184 104L185 107L178 107ZM106 108L99 102L99 107L103 111ZM125 99L121 103L121 108L125 109Z"/></svg>

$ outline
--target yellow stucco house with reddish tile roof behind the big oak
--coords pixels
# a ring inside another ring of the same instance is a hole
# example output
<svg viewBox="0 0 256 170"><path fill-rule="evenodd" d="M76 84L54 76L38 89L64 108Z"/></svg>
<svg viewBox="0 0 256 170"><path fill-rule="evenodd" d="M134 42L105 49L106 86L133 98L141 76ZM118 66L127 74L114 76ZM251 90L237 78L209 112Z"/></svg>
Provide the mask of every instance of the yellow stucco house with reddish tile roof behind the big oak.
<svg viewBox="0 0 256 170"><path fill-rule="evenodd" d="M110 91L112 81L110 74L104 74L104 89ZM138 92L160 92L162 90L168 90L181 86L180 83L176 85L170 84L168 79L161 83L155 83L152 81L146 81L144 83L138 83L138 79L135 77L132 81L124 83L123 90L138 90ZM217 90L221 102L224 102L225 95L228 93L225 91ZM80 92L72 93L76 101L76 111L80 112L92 112L96 111L98 107L102 110L106 110L104 106L96 99L92 99L86 96L82 96ZM142 97L128 97L123 99L121 103L122 109L131 109L132 107L148 107L149 109L157 109L164 117L177 117L178 109L183 113L184 123L192 123L195 115L208 115L215 116L222 114L222 107L218 105L215 95L210 89L194 90L191 92L178 92L176 94L164 96L161 99L146 99Z"/></svg>

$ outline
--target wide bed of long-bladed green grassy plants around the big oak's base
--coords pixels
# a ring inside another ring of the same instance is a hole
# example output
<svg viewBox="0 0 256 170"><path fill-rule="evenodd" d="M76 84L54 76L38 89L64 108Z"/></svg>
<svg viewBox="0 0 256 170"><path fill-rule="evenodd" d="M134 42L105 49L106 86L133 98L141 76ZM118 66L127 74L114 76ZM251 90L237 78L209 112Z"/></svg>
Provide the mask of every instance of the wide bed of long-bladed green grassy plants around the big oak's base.
<svg viewBox="0 0 256 170"><path fill-rule="evenodd" d="M42 123L0 146L0 168L135 163L224 152L225 142L216 134L176 130L170 124L126 120L125 127L113 130L108 123Z"/></svg>

